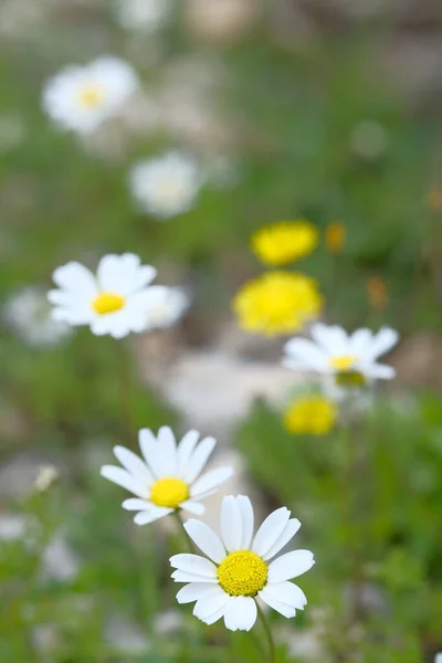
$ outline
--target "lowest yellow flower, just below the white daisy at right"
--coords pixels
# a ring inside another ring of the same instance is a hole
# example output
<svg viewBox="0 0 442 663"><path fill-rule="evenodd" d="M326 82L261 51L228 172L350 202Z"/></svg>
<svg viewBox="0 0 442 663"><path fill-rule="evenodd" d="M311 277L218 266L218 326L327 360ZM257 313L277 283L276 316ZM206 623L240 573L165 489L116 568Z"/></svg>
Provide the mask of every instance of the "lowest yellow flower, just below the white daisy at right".
<svg viewBox="0 0 442 663"><path fill-rule="evenodd" d="M324 396L303 396L284 412L284 428L295 435L326 435L335 427L338 410Z"/></svg>

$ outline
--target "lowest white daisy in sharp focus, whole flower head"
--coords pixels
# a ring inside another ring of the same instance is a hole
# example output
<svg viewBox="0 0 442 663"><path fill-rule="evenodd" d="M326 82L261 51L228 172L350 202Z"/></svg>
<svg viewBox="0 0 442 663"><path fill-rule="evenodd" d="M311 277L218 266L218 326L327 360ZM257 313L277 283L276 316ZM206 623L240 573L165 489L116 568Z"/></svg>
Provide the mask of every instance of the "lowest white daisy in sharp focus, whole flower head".
<svg viewBox="0 0 442 663"><path fill-rule="evenodd" d="M231 631L250 631L256 621L256 598L286 618L307 603L304 592L288 580L315 564L309 550L294 550L270 561L295 536L299 520L278 508L253 537L254 514L249 497L224 497L221 537L200 520L190 519L186 532L209 557L175 555L170 558L176 582L188 582L177 594L179 603L196 602L193 614L207 624L224 618ZM210 561L212 560L212 561Z"/></svg>

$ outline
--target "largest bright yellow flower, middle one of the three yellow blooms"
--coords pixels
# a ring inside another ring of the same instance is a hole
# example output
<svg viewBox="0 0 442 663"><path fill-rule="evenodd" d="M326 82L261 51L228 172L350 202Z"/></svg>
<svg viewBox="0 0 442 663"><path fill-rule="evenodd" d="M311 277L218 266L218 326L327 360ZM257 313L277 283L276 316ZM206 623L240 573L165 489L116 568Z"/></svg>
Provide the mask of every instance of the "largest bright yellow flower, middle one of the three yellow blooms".
<svg viewBox="0 0 442 663"><path fill-rule="evenodd" d="M314 278L283 271L249 281L233 299L240 326L264 336L299 330L322 306L323 296Z"/></svg>

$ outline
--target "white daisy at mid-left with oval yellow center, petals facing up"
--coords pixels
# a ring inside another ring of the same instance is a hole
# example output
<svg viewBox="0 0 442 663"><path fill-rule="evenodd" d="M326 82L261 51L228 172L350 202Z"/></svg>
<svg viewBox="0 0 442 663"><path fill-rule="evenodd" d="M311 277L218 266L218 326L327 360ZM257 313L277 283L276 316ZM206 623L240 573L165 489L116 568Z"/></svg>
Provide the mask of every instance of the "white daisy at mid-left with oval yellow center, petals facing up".
<svg viewBox="0 0 442 663"><path fill-rule="evenodd" d="M133 253L105 255L96 275L87 267L70 262L57 267L53 280L60 290L48 293L54 304L52 316L70 325L90 325L93 334L123 338L147 328L150 301L148 284L157 270L141 265Z"/></svg>

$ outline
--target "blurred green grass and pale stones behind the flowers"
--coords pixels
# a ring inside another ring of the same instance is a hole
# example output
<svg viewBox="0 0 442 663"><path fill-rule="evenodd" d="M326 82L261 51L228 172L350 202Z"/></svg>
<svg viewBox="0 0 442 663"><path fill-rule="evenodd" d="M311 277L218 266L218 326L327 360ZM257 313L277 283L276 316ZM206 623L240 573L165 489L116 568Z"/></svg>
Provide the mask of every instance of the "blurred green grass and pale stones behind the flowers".
<svg viewBox="0 0 442 663"><path fill-rule="evenodd" d="M57 265L126 251L190 299L173 328L128 339L136 425L218 436L228 492L262 515L286 504L318 560L305 614L274 619L278 663L442 650L441 38L431 0L0 0L1 661L256 660L250 634L176 604L176 533L137 528L99 477L127 439L115 341L49 318ZM45 81L108 54L139 91L87 139L61 131ZM134 200L130 169L170 150L201 177L190 208L161 220ZM291 219L320 233L298 269L324 320L401 335L398 378L366 415L358 496L339 483L345 431L284 430L299 381L280 365L284 339L231 312L263 271L252 233ZM352 523L343 499L362 504ZM208 501L209 522L218 509Z"/></svg>

